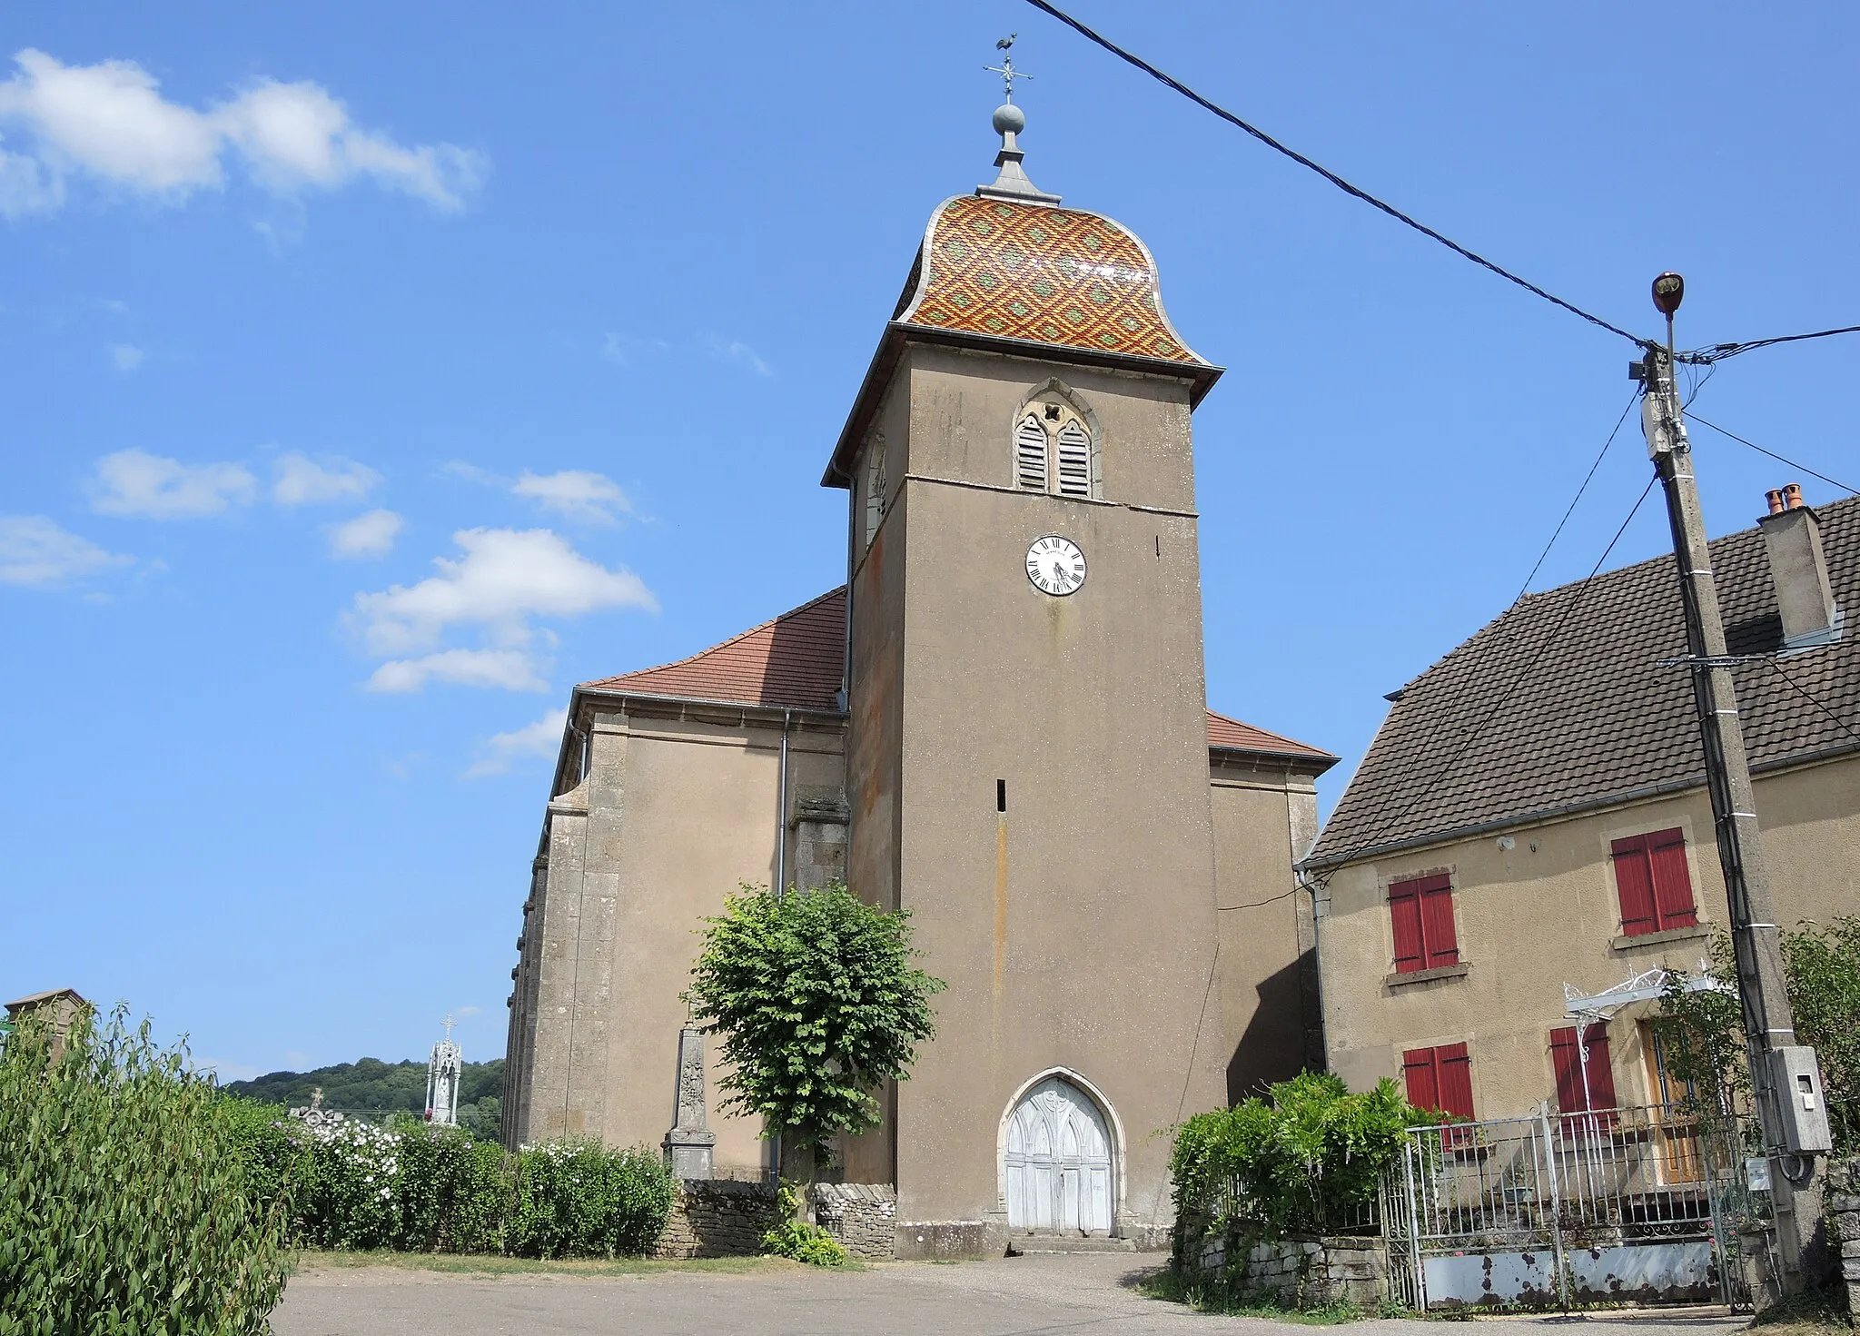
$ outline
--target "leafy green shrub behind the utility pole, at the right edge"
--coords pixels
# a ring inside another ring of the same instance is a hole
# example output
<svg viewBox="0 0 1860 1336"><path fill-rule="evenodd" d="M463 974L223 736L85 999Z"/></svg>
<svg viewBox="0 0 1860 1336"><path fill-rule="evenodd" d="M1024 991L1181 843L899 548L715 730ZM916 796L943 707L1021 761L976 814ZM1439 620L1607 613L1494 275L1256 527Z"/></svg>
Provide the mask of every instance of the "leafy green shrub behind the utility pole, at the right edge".
<svg viewBox="0 0 1860 1336"><path fill-rule="evenodd" d="M1860 1150L1860 917L1802 921L1780 934L1780 945L1797 1042L1812 1044L1821 1061L1834 1150L1853 1154ZM1654 1025L1670 1075L1693 1089L1700 1113L1717 1115L1750 1103L1737 966L1722 929L1711 936L1707 975L1728 988L1685 992L1685 975L1676 973Z"/></svg>

